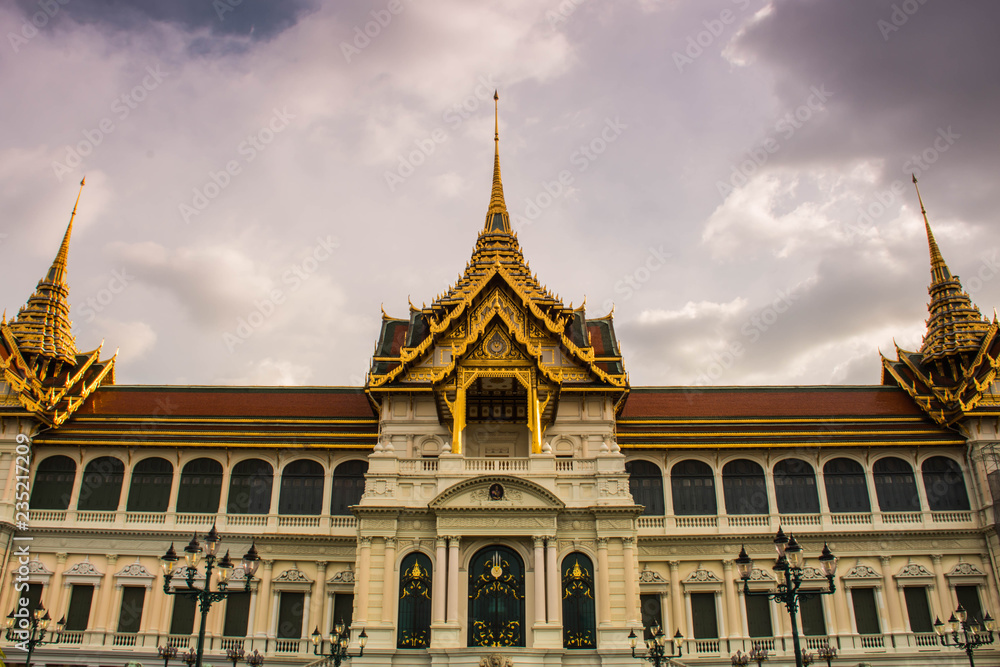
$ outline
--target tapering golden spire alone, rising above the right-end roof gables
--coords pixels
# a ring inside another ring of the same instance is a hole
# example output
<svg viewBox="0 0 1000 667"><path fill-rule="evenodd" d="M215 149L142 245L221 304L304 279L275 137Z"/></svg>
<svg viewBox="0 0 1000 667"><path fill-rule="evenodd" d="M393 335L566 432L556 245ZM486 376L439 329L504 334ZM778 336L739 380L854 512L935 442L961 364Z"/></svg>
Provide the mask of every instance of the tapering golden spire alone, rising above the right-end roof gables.
<svg viewBox="0 0 1000 667"><path fill-rule="evenodd" d="M972 303L958 276L953 276L948 270L927 220L916 175L913 176L913 186L917 189L917 201L920 202L920 213L924 217L931 259L931 284L927 289L931 297L927 304L930 317L927 319L927 333L920 352L924 355L925 362L937 362L942 373L947 371L947 374L954 375L960 367L967 365L961 357L975 354L979 350L989 322L983 319L979 308ZM952 359L952 364L945 363L948 358ZM952 369L954 361L958 361L958 366Z"/></svg>

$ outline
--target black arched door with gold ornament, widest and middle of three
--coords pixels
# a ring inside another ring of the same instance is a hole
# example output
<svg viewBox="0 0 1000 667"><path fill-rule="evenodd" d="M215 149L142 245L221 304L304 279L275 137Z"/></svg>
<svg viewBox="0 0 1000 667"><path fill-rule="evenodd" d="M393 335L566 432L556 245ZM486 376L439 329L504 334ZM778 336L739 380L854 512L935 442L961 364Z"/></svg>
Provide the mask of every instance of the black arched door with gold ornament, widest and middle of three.
<svg viewBox="0 0 1000 667"><path fill-rule="evenodd" d="M469 646L524 646L524 561L481 549L469 562Z"/></svg>

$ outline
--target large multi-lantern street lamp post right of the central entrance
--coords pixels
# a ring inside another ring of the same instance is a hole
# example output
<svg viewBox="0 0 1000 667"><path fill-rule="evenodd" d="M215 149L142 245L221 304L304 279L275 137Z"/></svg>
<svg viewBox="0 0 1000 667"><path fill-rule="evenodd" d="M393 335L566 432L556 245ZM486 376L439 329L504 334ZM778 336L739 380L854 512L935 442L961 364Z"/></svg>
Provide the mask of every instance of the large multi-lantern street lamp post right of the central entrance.
<svg viewBox="0 0 1000 667"><path fill-rule="evenodd" d="M740 549L740 555L736 558L736 569L740 578L743 579L743 594L748 596L765 596L770 600L784 604L788 609L788 615L792 619L792 649L795 651L796 667L806 667L805 655L799 646L799 630L796 617L799 611L799 602L816 597L817 595L831 595L837 590L837 585L833 578L837 574L837 558L830 552L830 548L824 544L823 551L819 557L820 571L826 576L829 589L825 591L803 591L802 587L802 566L805 557L802 555L802 547L795 541L795 537L785 537L784 531L778 527L778 534L774 538L774 548L778 551L778 558L772 568L775 572L784 575L784 581L779 580L778 589L771 591L750 590L750 574L753 572L753 560L747 555L745 547Z"/></svg>

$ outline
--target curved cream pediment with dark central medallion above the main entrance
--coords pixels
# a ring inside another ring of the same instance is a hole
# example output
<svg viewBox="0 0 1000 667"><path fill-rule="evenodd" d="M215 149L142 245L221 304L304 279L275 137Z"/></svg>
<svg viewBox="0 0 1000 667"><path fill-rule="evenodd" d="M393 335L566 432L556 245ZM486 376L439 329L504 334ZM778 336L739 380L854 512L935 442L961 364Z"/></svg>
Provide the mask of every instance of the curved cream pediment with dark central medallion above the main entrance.
<svg viewBox="0 0 1000 667"><path fill-rule="evenodd" d="M551 491L524 479L489 475L468 479L430 502L440 510L561 510L566 504Z"/></svg>

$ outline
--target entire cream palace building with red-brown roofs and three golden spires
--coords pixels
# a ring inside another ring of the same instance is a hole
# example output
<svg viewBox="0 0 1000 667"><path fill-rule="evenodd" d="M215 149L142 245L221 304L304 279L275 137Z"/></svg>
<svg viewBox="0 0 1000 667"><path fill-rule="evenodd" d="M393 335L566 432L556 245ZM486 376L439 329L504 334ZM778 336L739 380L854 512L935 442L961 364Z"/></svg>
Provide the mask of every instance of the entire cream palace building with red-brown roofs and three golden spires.
<svg viewBox="0 0 1000 667"><path fill-rule="evenodd" d="M1000 613L998 323L929 225L920 349L882 357L877 386L797 387L630 385L612 316L529 269L499 149L461 277L383 314L360 387L116 384L116 359L71 333L72 225L0 325L0 611L65 620L33 664L194 647L200 612L165 592L160 557L213 525L220 554L261 558L207 614L216 666L227 648L333 664L311 636L338 622L350 654L367 637L355 667L637 665L628 635L641 656L653 625L678 664L758 647L791 665L785 607L744 592L778 583L779 527L803 590L828 590L824 545L839 559L835 592L798 614L803 649L834 647L835 665L964 665L935 619ZM977 662L1000 664L994 646Z"/></svg>

